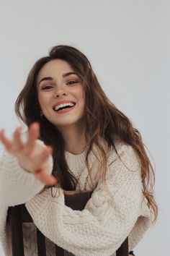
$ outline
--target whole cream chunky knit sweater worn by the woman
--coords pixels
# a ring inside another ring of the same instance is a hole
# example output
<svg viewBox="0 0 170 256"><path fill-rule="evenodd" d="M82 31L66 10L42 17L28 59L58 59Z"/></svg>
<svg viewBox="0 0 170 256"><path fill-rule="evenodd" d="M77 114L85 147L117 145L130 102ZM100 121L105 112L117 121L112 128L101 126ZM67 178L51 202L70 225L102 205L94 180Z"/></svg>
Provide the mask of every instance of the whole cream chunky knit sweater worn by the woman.
<svg viewBox="0 0 170 256"><path fill-rule="evenodd" d="M106 145L106 142L102 143ZM116 249L127 236L130 250L138 244L151 224L147 201L142 201L140 161L130 145L120 141L115 142L115 145L122 161L114 148L109 150L106 184L111 195L97 173L99 161L91 152L89 166L96 189L82 211L72 210L65 205L63 189L56 197L51 196L50 189L39 194L44 184L24 171L16 158L4 152L0 160L0 239L6 256L11 256L10 232L6 225L7 209L24 202L38 229L50 241L73 255L115 255ZM85 165L86 150L80 155L67 151L65 154L69 168L79 179L76 189L93 189ZM51 173L52 158L50 161ZM24 228L24 234L34 236L32 229ZM29 248L27 256L35 256L32 244L35 242L26 242L25 247Z"/></svg>

